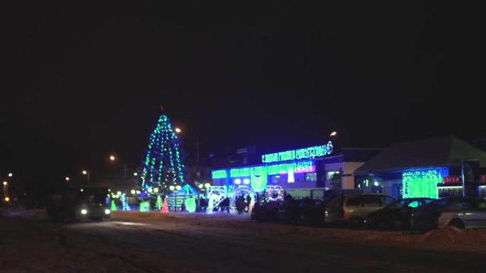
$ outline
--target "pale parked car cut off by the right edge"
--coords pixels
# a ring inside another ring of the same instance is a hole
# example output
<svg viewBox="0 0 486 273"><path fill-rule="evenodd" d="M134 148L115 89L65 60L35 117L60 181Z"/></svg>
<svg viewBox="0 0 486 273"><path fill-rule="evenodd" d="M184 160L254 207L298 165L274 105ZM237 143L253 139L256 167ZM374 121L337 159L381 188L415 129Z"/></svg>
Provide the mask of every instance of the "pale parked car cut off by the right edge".
<svg viewBox="0 0 486 273"><path fill-rule="evenodd" d="M486 200L474 198L438 199L411 215L412 228L429 230L448 225L456 228L486 228Z"/></svg>

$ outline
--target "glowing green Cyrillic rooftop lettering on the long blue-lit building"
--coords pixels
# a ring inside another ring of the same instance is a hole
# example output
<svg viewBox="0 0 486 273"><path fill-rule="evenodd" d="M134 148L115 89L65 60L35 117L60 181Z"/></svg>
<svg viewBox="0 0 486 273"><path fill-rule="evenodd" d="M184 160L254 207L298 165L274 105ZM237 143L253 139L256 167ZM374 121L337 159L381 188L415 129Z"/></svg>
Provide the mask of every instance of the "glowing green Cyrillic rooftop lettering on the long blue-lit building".
<svg viewBox="0 0 486 273"><path fill-rule="evenodd" d="M329 141L328 144L325 145L318 145L297 150L288 150L285 152L274 152L273 154L262 155L261 162L271 163L289 160L304 160L308 158L330 155L331 152L333 152L333 143Z"/></svg>

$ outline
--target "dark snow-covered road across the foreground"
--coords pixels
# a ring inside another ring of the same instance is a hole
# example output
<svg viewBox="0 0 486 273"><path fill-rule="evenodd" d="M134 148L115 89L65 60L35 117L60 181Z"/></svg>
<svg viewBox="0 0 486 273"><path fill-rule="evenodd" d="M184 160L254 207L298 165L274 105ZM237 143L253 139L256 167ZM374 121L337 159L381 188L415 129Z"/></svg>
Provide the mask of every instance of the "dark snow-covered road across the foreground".
<svg viewBox="0 0 486 273"><path fill-rule="evenodd" d="M102 223L4 217L0 233L0 272L484 272L486 267L484 243L456 247L429 240L441 233L307 228L220 214L115 213Z"/></svg>

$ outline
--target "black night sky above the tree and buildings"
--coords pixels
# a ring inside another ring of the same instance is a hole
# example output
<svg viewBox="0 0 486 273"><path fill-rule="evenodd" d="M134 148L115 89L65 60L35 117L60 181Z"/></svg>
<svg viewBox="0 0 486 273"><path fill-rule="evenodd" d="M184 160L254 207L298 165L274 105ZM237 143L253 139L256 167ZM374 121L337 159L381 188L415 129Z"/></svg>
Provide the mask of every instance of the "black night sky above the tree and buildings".
<svg viewBox="0 0 486 273"><path fill-rule="evenodd" d="M136 165L162 104L190 156L486 135L478 7L207 2L2 3L0 170Z"/></svg>

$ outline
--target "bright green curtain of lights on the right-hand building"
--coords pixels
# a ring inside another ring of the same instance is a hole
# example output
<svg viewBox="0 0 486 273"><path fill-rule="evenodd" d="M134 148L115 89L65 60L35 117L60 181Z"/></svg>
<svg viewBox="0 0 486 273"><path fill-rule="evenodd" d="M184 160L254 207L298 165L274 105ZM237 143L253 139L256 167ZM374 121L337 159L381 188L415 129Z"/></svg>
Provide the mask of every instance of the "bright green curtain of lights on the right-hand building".
<svg viewBox="0 0 486 273"><path fill-rule="evenodd" d="M442 183L441 169L411 170L403 172L403 198L438 198L437 184Z"/></svg>

